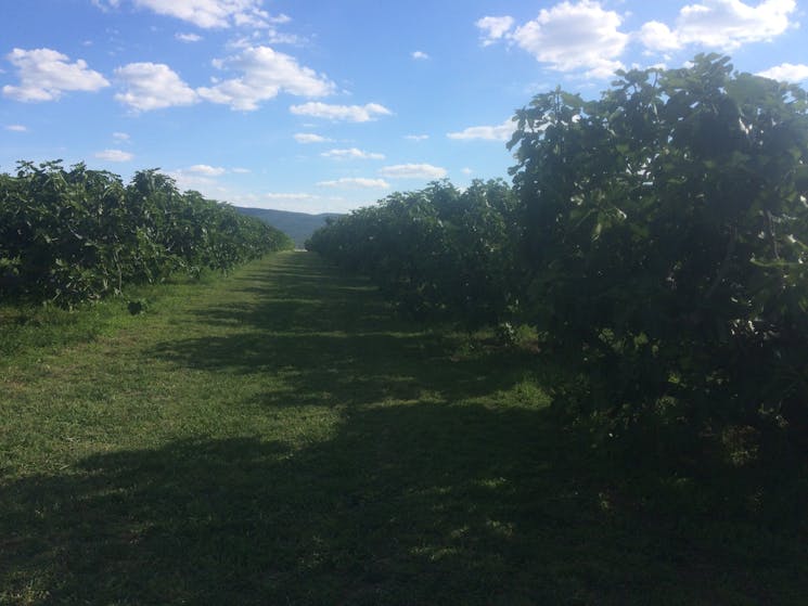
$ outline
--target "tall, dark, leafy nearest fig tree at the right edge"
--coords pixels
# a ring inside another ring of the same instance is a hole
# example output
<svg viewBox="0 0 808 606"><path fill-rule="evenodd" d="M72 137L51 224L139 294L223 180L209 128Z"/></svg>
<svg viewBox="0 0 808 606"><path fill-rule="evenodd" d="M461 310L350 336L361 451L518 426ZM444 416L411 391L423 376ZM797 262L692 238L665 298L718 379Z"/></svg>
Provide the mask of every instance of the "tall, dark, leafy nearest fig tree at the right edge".
<svg viewBox="0 0 808 606"><path fill-rule="evenodd" d="M798 452L806 93L716 55L619 76L599 101L556 90L517 113L535 321L586 369L587 408L612 435L637 429L681 456L741 440L740 456L775 436Z"/></svg>

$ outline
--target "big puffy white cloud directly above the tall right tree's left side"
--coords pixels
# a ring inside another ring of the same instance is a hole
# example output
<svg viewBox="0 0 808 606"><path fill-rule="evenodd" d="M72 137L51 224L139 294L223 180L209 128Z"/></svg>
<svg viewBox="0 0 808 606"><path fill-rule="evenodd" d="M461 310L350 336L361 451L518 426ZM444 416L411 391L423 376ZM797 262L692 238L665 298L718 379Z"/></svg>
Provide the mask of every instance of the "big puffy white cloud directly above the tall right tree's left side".
<svg viewBox="0 0 808 606"><path fill-rule="evenodd" d="M557 72L585 69L588 77L607 78L623 67L618 57L628 43L619 31L623 17L600 2L580 0L542 9L508 34L508 38Z"/></svg>

